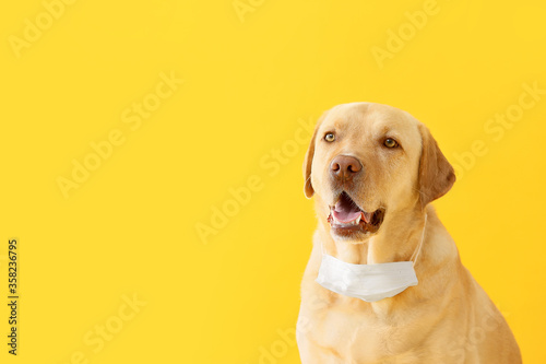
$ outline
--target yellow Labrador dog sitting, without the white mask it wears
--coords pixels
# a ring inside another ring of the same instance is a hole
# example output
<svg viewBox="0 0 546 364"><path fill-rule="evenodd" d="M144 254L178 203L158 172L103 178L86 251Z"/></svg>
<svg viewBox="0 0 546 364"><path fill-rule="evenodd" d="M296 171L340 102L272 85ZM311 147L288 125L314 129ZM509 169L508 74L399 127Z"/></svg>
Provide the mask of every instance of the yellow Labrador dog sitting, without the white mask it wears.
<svg viewBox="0 0 546 364"><path fill-rule="evenodd" d="M335 106L317 125L304 174L319 220L301 283L304 364L521 363L429 204L455 176L423 124L387 105ZM317 282L324 254L349 268L410 261L418 284L371 302L335 293Z"/></svg>

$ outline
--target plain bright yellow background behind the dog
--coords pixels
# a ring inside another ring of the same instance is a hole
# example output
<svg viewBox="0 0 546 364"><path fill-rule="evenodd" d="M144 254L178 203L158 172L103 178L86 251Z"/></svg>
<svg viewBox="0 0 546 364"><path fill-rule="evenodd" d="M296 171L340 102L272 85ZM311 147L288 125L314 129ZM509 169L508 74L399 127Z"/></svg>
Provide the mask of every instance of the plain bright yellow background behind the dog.
<svg viewBox="0 0 546 364"><path fill-rule="evenodd" d="M546 89L544 2L438 0L382 68L372 47L387 49L389 31L425 1L241 2L244 21L230 0L79 0L19 58L9 37L22 38L45 5L1 5L1 362L64 364L82 352L90 363L251 364L275 352L274 363L298 363L278 333L295 326L316 224L298 120L372 101L427 124L452 163L474 141L487 145L436 206L524 362L545 363L546 97L500 140L484 129L524 83ZM121 114L162 72L185 82L131 130ZM124 143L66 199L57 178L115 129ZM295 143L273 167L275 150ZM251 176L261 189L204 244L197 226ZM5 344L10 237L20 253L15 359ZM93 352L84 336L133 294L146 305Z"/></svg>

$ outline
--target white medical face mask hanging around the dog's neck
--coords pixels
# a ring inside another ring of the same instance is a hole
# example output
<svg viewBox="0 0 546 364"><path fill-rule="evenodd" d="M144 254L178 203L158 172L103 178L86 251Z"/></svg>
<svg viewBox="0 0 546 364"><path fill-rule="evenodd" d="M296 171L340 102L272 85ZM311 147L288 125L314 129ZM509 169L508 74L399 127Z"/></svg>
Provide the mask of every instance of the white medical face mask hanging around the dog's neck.
<svg viewBox="0 0 546 364"><path fill-rule="evenodd" d="M322 251L317 283L335 293L366 302L392 297L408 286L417 285L414 265L425 238L426 225L427 215L425 215L419 245L410 261L353 265Z"/></svg>

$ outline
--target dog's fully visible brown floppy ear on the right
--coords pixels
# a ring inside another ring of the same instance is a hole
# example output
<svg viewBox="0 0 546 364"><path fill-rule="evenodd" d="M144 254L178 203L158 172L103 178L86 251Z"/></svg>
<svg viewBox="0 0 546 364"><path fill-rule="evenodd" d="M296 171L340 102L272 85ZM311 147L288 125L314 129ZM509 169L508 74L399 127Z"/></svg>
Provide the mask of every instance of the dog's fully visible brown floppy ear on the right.
<svg viewBox="0 0 546 364"><path fill-rule="evenodd" d="M455 183L455 173L438 143L424 125L419 125L423 150L419 162L420 206L425 207L446 195Z"/></svg>

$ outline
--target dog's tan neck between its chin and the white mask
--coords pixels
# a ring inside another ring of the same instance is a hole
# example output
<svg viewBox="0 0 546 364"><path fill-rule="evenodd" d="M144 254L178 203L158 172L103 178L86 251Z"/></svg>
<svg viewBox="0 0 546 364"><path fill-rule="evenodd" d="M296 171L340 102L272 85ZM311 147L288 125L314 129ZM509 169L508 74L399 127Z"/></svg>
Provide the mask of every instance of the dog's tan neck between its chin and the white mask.
<svg viewBox="0 0 546 364"><path fill-rule="evenodd" d="M427 214L435 214L428 209ZM328 224L328 223L327 223ZM324 244L324 253L345 262L355 265L410 261L419 246L425 227L425 212L417 209L391 212L380 227L380 232L364 243L334 240L328 232L329 226L322 224L329 236Z"/></svg>

